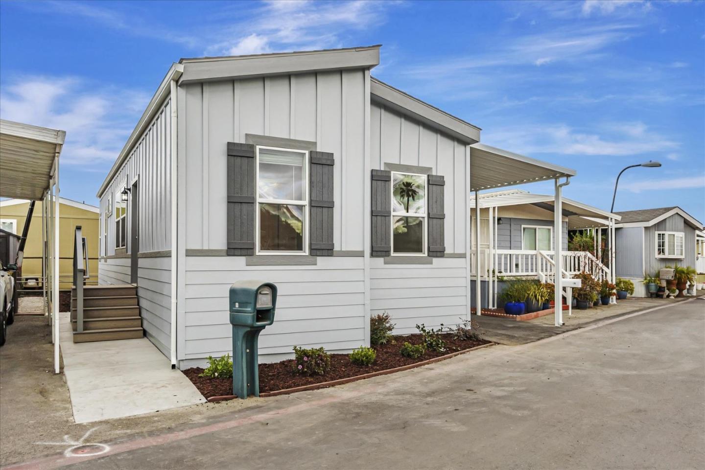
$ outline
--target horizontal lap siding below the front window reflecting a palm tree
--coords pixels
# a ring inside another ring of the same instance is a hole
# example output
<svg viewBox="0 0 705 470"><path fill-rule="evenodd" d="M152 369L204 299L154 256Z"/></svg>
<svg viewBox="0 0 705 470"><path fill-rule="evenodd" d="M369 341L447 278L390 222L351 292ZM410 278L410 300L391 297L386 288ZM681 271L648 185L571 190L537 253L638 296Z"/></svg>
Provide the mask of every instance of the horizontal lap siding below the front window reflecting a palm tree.
<svg viewBox="0 0 705 470"><path fill-rule="evenodd" d="M464 258L435 258L432 265L371 261L371 313L386 311L396 323L394 334L416 333L417 323L438 328L466 318Z"/></svg>

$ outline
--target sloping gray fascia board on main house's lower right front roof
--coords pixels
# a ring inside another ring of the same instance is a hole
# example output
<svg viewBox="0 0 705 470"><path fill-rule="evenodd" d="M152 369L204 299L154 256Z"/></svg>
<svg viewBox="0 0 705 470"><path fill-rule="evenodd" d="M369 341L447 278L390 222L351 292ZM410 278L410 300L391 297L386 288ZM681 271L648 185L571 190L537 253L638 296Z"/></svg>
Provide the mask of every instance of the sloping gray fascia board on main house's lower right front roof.
<svg viewBox="0 0 705 470"><path fill-rule="evenodd" d="M398 113L412 116L431 128L455 137L460 142L474 144L480 140L481 129L476 125L441 111L435 106L412 97L376 78L370 80L370 93L372 101Z"/></svg>

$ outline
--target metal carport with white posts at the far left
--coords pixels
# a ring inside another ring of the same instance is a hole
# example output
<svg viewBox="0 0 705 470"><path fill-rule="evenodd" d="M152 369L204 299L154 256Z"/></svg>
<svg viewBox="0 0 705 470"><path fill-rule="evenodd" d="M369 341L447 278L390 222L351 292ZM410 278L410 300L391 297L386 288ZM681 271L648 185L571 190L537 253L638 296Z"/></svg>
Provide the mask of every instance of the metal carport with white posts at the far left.
<svg viewBox="0 0 705 470"><path fill-rule="evenodd" d="M42 201L44 312L59 373L59 155L66 131L0 119L0 197Z"/></svg>

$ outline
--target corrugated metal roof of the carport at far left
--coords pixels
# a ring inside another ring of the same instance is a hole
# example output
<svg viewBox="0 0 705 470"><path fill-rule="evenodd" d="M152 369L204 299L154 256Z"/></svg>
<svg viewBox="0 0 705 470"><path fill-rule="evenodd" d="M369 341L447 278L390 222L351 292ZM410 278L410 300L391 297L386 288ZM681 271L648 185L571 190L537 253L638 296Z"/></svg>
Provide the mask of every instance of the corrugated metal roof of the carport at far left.
<svg viewBox="0 0 705 470"><path fill-rule="evenodd" d="M66 131L0 119L0 197L40 200Z"/></svg>

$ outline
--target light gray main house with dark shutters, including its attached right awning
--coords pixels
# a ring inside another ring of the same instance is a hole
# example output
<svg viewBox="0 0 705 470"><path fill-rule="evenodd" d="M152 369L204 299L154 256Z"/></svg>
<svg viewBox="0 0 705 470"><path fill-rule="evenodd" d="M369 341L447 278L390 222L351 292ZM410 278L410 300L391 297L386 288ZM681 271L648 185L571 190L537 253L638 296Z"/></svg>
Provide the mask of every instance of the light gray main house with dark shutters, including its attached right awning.
<svg viewBox="0 0 705 470"><path fill-rule="evenodd" d="M235 280L278 286L262 361L367 345L383 311L396 333L467 319L472 191L575 175L479 144L378 63L362 47L173 64L98 197L99 281L137 285L174 366L231 352Z"/></svg>

